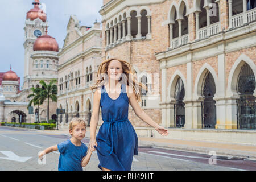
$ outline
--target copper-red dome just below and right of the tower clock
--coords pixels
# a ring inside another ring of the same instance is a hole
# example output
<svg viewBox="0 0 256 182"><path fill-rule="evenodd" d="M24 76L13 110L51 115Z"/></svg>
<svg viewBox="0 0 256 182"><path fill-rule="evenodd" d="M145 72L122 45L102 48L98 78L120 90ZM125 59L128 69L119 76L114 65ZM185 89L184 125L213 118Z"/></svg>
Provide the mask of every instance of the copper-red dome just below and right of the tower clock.
<svg viewBox="0 0 256 182"><path fill-rule="evenodd" d="M34 46L33 46L34 51L55 51L59 52L59 45L55 38L49 36L49 35L43 35L39 36L35 40Z"/></svg>

